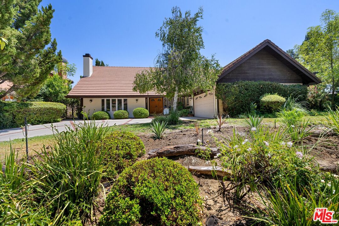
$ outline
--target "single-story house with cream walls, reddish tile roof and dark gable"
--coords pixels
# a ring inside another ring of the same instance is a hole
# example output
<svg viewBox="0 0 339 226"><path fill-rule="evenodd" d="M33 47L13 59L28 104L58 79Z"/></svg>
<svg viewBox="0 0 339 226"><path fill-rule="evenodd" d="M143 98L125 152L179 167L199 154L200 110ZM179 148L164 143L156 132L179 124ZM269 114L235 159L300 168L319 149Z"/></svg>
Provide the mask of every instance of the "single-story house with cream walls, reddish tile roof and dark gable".
<svg viewBox="0 0 339 226"><path fill-rule="evenodd" d="M103 67L93 66L89 54L83 56L83 77L67 95L81 98L81 105L89 114L94 111L108 111L113 118L116 110L127 110L133 117L133 109L144 107L150 114L161 114L164 108L173 104L173 98L163 94L133 91L135 75L147 67ZM320 83L311 71L270 40L265 40L236 60L227 64L216 83L247 81L271 81L286 85L314 85ZM192 106L194 116L213 118L222 109L221 100L215 97L214 89L193 97L178 98L185 107Z"/></svg>

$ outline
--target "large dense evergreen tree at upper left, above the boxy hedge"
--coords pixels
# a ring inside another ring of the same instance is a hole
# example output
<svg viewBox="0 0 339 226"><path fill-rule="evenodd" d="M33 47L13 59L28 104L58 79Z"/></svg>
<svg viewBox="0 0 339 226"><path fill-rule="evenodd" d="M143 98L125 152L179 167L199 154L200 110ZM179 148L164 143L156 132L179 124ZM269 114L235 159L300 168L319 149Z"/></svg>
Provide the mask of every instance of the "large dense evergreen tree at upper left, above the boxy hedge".
<svg viewBox="0 0 339 226"><path fill-rule="evenodd" d="M57 42L51 42L49 29L54 9L49 4L39 10L40 2L0 3L0 36L8 40L0 54L0 84L12 84L0 98L13 91L19 98L35 95L59 61Z"/></svg>

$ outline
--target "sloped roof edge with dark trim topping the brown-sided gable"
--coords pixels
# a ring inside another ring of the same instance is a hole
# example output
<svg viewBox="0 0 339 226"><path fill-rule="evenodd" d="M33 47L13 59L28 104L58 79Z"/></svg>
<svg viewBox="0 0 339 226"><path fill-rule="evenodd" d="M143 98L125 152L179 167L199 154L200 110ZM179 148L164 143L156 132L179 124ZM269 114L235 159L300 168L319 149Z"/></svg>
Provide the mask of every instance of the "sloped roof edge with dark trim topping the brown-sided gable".
<svg viewBox="0 0 339 226"><path fill-rule="evenodd" d="M232 61L231 63L227 64L226 66L223 67L223 70L219 76L219 79L221 79L222 77L224 77L228 71L234 69L235 67L239 66L244 60L248 59L252 54L255 54L256 52L258 52L260 49L262 49L263 47L270 45L270 47L272 49L274 49L276 52L281 53L283 56L285 56L286 58L288 58L288 60L290 62L293 62L296 66L300 67L302 70L305 71L305 74L310 77L312 80L314 80L315 84L318 84L321 82L321 80L315 76L311 71L309 71L307 68L305 68L304 66L302 66L298 61L296 61L293 57L291 57L289 54L287 54L284 50L282 50L281 48L279 48L279 46L277 46L276 44L274 44L271 40L266 39L264 41L262 41L261 43L259 43L258 45L254 46L252 49L248 50L246 53L244 53L243 55L241 55L240 57L238 57L237 59L235 59L234 61ZM253 53L254 52L254 53Z"/></svg>

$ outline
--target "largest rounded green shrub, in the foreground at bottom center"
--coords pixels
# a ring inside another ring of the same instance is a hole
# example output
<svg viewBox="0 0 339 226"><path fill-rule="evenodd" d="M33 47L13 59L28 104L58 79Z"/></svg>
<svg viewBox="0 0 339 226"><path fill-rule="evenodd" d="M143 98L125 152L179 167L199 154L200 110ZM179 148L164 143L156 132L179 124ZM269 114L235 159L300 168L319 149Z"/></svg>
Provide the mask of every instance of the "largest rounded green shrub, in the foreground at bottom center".
<svg viewBox="0 0 339 226"><path fill-rule="evenodd" d="M202 201L188 170L166 158L126 168L105 201L99 225L197 225Z"/></svg>

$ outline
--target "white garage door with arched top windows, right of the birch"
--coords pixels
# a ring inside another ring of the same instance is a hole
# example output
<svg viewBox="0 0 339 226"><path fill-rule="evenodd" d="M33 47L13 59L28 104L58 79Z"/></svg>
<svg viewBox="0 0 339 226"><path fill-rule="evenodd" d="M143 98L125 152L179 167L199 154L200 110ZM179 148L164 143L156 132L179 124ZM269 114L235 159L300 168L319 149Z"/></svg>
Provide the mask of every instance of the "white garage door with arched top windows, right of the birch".
<svg viewBox="0 0 339 226"><path fill-rule="evenodd" d="M214 118L213 93L203 93L194 97L194 116Z"/></svg>

